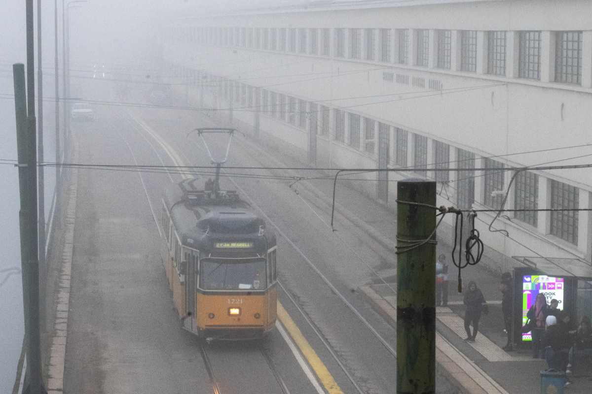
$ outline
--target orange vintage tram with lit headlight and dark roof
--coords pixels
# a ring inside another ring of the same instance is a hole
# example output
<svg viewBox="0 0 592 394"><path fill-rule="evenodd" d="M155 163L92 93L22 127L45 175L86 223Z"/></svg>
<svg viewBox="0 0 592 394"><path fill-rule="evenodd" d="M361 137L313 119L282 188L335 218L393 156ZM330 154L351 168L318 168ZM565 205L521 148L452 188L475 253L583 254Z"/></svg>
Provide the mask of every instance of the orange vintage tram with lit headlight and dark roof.
<svg viewBox="0 0 592 394"><path fill-rule="evenodd" d="M200 178L162 199L163 261L182 327L208 342L266 336L277 315L276 238L232 190Z"/></svg>

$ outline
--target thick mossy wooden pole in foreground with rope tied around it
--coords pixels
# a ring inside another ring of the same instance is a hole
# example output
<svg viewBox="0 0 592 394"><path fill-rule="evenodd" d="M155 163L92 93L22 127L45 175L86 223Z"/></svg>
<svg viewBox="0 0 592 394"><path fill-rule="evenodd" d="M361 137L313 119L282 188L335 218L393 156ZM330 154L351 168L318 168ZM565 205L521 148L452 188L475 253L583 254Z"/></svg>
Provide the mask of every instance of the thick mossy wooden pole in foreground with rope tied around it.
<svg viewBox="0 0 592 394"><path fill-rule="evenodd" d="M432 394L436 392L436 211L414 203L435 206L436 182L399 181L397 201L397 393Z"/></svg>

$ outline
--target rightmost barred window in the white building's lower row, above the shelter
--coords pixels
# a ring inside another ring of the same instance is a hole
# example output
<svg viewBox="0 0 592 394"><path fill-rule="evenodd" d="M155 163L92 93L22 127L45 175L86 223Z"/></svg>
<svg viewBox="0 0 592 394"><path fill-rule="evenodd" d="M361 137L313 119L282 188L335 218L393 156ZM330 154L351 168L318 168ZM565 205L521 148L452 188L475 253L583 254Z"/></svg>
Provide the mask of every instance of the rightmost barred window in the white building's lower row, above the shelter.
<svg viewBox="0 0 592 394"><path fill-rule="evenodd" d="M551 180L551 209L578 209L577 187ZM578 245L578 212L551 211L551 234Z"/></svg>

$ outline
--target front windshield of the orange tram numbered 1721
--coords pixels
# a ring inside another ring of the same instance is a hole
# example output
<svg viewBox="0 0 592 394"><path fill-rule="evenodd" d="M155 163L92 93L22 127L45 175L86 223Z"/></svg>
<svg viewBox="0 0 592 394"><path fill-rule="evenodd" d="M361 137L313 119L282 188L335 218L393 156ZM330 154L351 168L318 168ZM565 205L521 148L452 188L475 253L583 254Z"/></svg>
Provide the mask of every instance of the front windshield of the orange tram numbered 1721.
<svg viewBox="0 0 592 394"><path fill-rule="evenodd" d="M204 259L200 263L200 288L206 290L265 289L265 260Z"/></svg>

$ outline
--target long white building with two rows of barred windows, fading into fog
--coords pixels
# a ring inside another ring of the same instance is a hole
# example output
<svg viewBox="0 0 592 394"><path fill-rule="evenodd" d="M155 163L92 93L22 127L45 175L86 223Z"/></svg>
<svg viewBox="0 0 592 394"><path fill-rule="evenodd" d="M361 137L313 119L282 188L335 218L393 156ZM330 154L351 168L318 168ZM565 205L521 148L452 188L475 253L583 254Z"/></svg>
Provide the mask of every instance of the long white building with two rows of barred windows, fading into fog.
<svg viewBox="0 0 592 394"><path fill-rule="evenodd" d="M592 213L573 210L592 208L592 169L511 185L512 171L472 170L592 163L590 15L584 0L315 2L179 19L161 44L190 105L311 165L452 169L363 175L375 181L358 187L392 207L387 180L420 175L446 206L499 209L509 188L506 209L572 209L503 213L493 227L509 236L480 213L505 270L592 262Z"/></svg>

